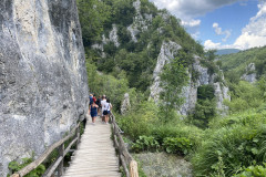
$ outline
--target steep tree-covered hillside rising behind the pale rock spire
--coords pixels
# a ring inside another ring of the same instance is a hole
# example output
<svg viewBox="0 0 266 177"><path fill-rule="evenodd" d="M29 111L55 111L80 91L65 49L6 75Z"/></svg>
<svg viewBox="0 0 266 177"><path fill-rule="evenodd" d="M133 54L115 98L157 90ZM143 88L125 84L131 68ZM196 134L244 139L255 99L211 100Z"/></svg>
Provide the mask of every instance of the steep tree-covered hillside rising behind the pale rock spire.
<svg viewBox="0 0 266 177"><path fill-rule="evenodd" d="M85 50L98 70L114 76L125 72L129 86L145 92L163 41L181 44L187 54L203 55L204 52L176 18L157 10L147 0L140 4L136 1L134 6L133 2L80 1L80 17ZM91 12L93 4L99 11Z"/></svg>

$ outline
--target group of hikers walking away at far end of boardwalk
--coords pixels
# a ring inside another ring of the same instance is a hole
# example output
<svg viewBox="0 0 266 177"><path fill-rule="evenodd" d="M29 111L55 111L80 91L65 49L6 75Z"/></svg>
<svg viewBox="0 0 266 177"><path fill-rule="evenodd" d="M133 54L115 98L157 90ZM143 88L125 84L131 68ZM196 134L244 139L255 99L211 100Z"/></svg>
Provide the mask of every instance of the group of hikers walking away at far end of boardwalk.
<svg viewBox="0 0 266 177"><path fill-rule="evenodd" d="M89 115L92 117L92 125L95 125L95 119L98 115L101 115L102 123L109 124L109 115L112 110L112 104L110 103L110 98L106 98L105 95L99 96L96 98L95 95L90 94L90 107Z"/></svg>

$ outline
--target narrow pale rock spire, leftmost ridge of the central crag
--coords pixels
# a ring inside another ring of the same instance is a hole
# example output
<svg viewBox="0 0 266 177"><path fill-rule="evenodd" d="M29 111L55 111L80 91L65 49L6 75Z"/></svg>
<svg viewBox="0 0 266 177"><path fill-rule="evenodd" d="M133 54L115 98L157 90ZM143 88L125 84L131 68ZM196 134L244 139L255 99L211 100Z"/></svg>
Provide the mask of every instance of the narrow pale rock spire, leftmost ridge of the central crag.
<svg viewBox="0 0 266 177"><path fill-rule="evenodd" d="M153 72L153 84L150 87L151 94L150 98L153 98L155 102L158 102L160 98L160 92L162 92L162 88L160 87L160 74L163 70L163 66L171 62L177 54L178 50L181 49L181 45L178 45L175 42L163 42L158 58L157 58L157 64Z"/></svg>

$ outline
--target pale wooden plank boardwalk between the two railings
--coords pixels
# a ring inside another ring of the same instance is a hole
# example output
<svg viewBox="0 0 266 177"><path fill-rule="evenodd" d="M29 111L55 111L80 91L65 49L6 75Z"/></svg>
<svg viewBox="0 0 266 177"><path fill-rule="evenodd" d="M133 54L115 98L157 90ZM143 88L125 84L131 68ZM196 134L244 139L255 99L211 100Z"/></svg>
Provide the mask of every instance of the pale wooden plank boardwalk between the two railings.
<svg viewBox="0 0 266 177"><path fill-rule="evenodd" d="M121 177L119 158L111 139L111 125L91 117L81 137L81 143L72 157L63 177Z"/></svg>

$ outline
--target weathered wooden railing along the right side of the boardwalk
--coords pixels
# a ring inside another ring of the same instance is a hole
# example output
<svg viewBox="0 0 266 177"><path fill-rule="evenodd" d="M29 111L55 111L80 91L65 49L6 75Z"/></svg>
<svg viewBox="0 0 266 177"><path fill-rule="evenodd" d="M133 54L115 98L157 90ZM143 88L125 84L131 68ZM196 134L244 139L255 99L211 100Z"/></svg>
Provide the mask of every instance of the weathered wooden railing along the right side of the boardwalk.
<svg viewBox="0 0 266 177"><path fill-rule="evenodd" d="M115 148L119 150L119 157L124 168L125 176L139 177L137 163L134 160L134 158L131 156L127 148L125 147L125 143L121 135L121 129L116 124L115 116L111 113L110 117L113 126L114 145L115 145ZM129 167L130 167L130 170L129 170Z"/></svg>

